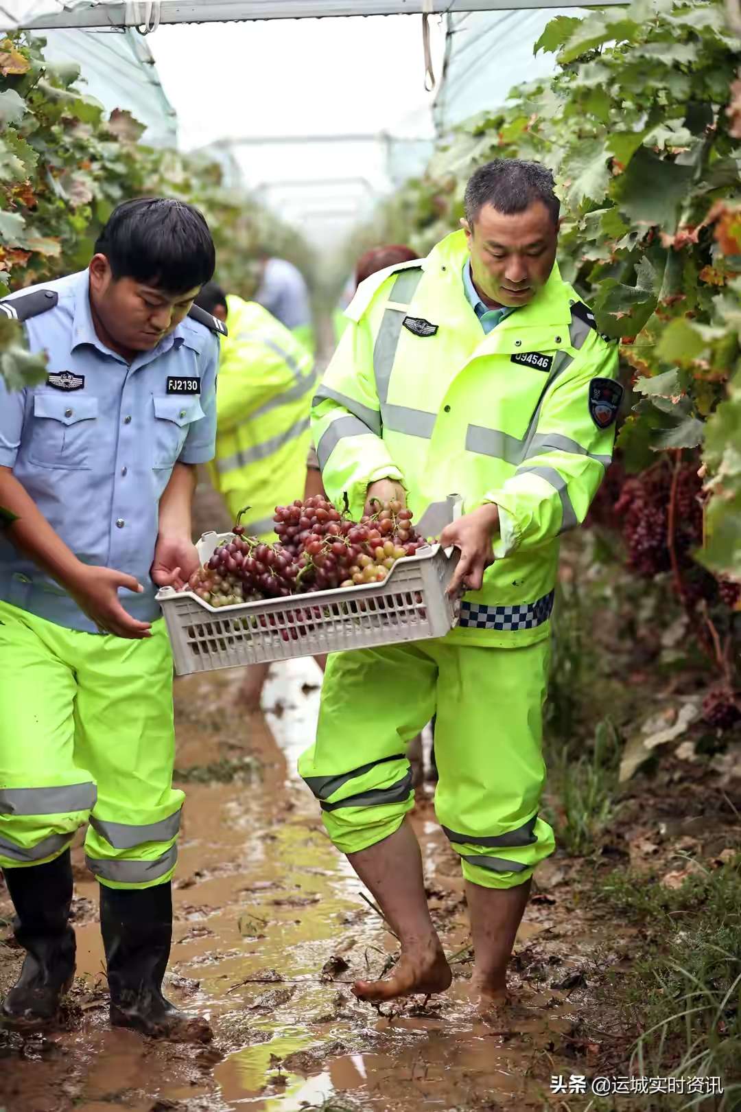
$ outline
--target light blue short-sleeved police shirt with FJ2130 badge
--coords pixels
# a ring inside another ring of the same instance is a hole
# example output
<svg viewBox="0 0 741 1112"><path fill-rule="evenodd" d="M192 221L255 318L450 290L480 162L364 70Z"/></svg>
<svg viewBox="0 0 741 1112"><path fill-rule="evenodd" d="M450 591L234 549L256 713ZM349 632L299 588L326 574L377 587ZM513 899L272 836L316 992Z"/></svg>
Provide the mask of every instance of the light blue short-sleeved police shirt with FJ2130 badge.
<svg viewBox="0 0 741 1112"><path fill-rule="evenodd" d="M48 377L17 393L0 380L0 466L12 468L79 559L136 576L143 594L122 589L121 603L132 617L151 622L160 617L149 575L160 496L177 461L204 464L214 455L219 340L187 317L128 364L98 338L87 270L30 289L59 296L54 308L24 322L30 349L47 353ZM69 629L98 633L1 533L0 598Z"/></svg>

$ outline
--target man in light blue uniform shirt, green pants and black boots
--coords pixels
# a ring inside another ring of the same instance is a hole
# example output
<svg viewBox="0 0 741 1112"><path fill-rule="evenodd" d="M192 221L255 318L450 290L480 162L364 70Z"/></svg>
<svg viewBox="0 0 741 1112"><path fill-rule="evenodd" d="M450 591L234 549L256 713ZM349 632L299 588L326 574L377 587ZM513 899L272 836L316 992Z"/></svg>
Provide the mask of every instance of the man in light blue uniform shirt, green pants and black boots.
<svg viewBox="0 0 741 1112"><path fill-rule="evenodd" d="M48 357L0 383L0 866L26 950L0 1023L53 1022L74 973L69 846L89 821L111 1021L210 1037L161 992L183 795L172 788L172 662L156 602L198 567L190 506L213 457L221 321L192 206L119 206L87 270L0 302Z"/></svg>

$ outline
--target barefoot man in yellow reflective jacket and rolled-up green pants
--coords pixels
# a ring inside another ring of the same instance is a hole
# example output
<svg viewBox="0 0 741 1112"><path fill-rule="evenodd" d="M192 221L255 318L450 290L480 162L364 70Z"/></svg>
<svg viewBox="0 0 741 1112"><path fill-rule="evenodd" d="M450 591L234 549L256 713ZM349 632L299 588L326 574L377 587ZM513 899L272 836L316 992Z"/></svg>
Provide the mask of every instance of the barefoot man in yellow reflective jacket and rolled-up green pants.
<svg viewBox="0 0 741 1112"><path fill-rule="evenodd" d="M401 939L366 1000L448 987L430 920L405 744L437 711L438 818L460 855L489 1007L537 864L541 717L559 537L583 522L610 463L615 346L555 264L550 172L498 160L465 192L463 230L364 282L313 399L322 479L353 516L405 499L425 536L460 548L460 624L438 641L330 656L316 744L300 771ZM448 496L463 499L451 523Z"/></svg>

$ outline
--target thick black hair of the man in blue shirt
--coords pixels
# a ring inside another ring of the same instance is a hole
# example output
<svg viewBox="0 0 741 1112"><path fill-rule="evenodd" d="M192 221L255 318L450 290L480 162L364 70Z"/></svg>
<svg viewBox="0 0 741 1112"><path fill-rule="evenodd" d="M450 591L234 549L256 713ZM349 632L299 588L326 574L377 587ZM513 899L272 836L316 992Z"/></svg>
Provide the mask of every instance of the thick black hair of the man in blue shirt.
<svg viewBox="0 0 741 1112"><path fill-rule="evenodd" d="M216 250L203 215L184 201L138 197L111 212L96 242L113 278L134 278L168 294L210 281Z"/></svg>

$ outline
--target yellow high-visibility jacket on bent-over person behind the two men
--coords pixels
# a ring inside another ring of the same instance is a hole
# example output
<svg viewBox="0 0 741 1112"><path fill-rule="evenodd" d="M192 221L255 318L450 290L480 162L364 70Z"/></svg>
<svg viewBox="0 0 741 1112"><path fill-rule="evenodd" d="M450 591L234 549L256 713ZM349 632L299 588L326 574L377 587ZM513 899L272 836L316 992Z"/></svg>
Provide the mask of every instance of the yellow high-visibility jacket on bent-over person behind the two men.
<svg viewBox="0 0 741 1112"><path fill-rule="evenodd" d="M214 485L248 533L274 540L276 506L303 497L316 381L303 345L254 301L227 298L217 390Z"/></svg>

